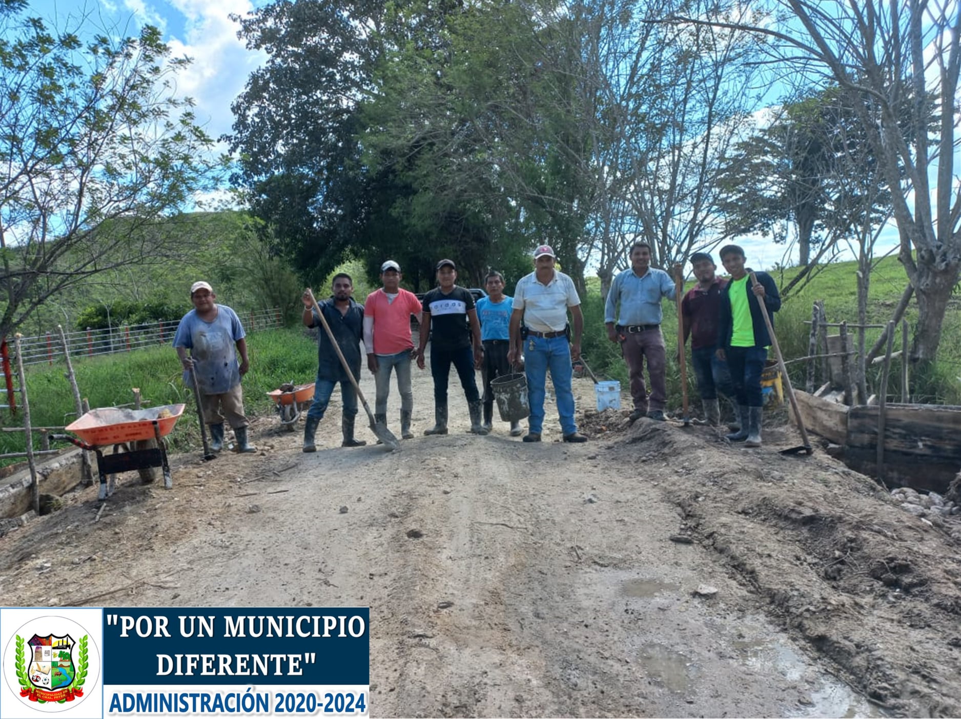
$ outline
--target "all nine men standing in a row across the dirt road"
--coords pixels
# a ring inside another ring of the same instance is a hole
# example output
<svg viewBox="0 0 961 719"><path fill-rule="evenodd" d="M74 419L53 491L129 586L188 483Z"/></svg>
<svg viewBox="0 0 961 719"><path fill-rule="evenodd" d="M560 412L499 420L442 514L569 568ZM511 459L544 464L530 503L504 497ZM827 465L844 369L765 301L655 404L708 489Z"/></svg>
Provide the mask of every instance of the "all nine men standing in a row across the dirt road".
<svg viewBox="0 0 961 719"><path fill-rule="evenodd" d="M630 421L643 416L663 421L667 361L660 327L661 302L675 299L678 285L667 272L651 266L651 246L647 243L635 243L629 256L630 267L614 278L608 292L604 324L607 337L620 344L628 364L633 402ZM698 284L684 296L679 321L685 343L691 338L692 364L707 421L715 425L720 422L721 391L736 399L737 426L727 438L759 447L763 406L760 381L771 343L759 303L772 313L780 308L780 297L767 273L752 273L745 266L744 251L737 245L723 247L721 260L730 274L729 281L716 276L717 267L710 255L692 256ZM424 434L448 433L451 365L467 401L470 431L488 434L494 405L491 382L523 362L530 405L528 433L523 441L541 441L548 370L562 440L586 441L587 437L578 432L572 389L572 362L580 357L584 324L577 288L569 276L556 269L554 250L549 245L534 251L533 262L534 271L521 278L513 297L505 295L503 275L489 272L484 281L487 296L477 302L470 291L456 285L456 263L447 259L437 262L437 286L423 301L400 286L403 275L394 260L383 262L382 286L370 293L363 305L354 300L353 280L343 272L333 277L331 297L316 305L310 290L305 290L304 325L313 328L326 324L333 342L326 330L319 333L317 379L305 422L304 452L316 450L317 426L336 384L340 384L343 407L342 446L366 444L355 436L357 391L343 366L346 363L350 373L359 376L361 346L377 388L375 421L386 425L393 372L401 395L401 436L413 437L411 363L425 368L428 342L434 424ZM676 270L679 274L679 266ZM195 381L200 389L211 449L222 449L224 422L228 421L234 428L237 451L254 452L256 448L247 440L248 421L240 390L240 379L249 367L243 327L234 310L214 303L216 296L208 283L195 283L190 298L194 310L181 320L174 346L184 363L185 376L189 375L187 379ZM321 322L321 313L326 323ZM420 324L417 347L412 341L411 317ZM650 393L644 381L645 362ZM477 369L481 370L482 395L476 382ZM511 422L509 433L519 436L523 431L519 423Z"/></svg>

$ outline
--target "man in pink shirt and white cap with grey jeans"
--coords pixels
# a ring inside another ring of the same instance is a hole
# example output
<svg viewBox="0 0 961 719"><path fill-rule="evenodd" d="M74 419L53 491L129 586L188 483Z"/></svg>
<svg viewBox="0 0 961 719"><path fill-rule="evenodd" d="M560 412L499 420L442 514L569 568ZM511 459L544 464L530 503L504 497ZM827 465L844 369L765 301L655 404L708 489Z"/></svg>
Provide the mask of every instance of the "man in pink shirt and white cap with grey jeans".
<svg viewBox="0 0 961 719"><path fill-rule="evenodd" d="M414 395L410 388L410 359L416 354L410 335L410 316L421 321L422 307L413 292L401 288L401 265L387 260L381 265L381 289L364 301L363 342L367 348L367 368L377 384L374 418L387 425L387 396L390 370L397 370L397 391L401 393L401 437L410 439L410 413Z"/></svg>

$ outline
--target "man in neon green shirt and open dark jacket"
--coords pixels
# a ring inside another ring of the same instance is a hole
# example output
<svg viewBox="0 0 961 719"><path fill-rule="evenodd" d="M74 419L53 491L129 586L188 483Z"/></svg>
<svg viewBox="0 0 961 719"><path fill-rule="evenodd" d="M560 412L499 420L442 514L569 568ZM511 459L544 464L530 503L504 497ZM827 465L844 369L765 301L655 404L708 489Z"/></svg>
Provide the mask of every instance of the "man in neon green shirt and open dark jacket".
<svg viewBox="0 0 961 719"><path fill-rule="evenodd" d="M744 250L737 245L721 248L721 262L730 273L730 282L721 291L718 359L727 359L741 420L741 429L727 434L727 438L743 441L745 447L760 447L764 410L761 373L771 344L760 303L764 303L774 326L780 294L767 272L755 272L757 283L752 285L752 269L744 266Z"/></svg>

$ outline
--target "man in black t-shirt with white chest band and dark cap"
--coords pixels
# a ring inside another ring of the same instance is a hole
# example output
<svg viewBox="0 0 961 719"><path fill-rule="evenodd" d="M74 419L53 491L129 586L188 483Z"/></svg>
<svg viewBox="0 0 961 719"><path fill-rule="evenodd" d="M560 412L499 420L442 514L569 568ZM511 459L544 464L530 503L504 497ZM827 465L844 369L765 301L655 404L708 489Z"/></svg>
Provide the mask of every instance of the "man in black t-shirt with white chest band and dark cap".
<svg viewBox="0 0 961 719"><path fill-rule="evenodd" d="M425 430L424 434L447 434L447 382L451 364L454 364L460 386L467 396L471 432L487 434L480 421L480 392L474 376L474 369L480 367L483 358L480 322L474 308L474 296L463 287L456 286L456 279L454 260L440 260L437 262L439 286L424 296L424 321L420 330L420 347L417 349L417 366L424 369L424 350L430 337L434 413L434 426Z"/></svg>

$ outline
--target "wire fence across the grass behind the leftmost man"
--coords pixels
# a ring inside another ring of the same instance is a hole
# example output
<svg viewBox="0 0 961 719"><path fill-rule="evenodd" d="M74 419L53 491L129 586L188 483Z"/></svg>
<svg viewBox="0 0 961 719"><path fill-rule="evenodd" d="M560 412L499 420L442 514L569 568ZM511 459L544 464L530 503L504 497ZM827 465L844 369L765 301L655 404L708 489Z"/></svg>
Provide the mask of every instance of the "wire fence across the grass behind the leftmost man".
<svg viewBox="0 0 961 719"><path fill-rule="evenodd" d="M283 327L283 312L279 308L238 312L237 316L247 333ZM180 319L171 319L104 330L87 329L63 335L71 357L95 357L168 344L173 341L179 324ZM21 337L20 351L25 365L44 362L53 364L63 357L60 333L54 331L44 335Z"/></svg>

